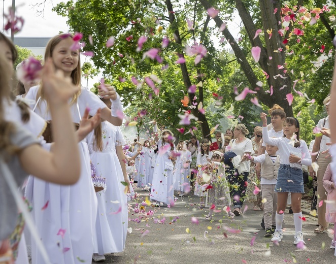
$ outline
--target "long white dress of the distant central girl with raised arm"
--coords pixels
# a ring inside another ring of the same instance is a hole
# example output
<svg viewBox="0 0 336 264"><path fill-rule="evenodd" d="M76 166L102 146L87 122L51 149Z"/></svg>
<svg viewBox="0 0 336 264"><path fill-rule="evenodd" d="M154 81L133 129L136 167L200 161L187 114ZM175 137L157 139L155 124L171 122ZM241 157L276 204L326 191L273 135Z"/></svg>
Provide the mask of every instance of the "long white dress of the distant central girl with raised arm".
<svg viewBox="0 0 336 264"><path fill-rule="evenodd" d="M155 160L153 185L151 189L150 199L165 204L171 204L171 201L174 202L174 165L172 160L169 159L171 147L169 143L164 143L162 147L161 140L159 140L157 144L159 147L158 152L160 153L158 153Z"/></svg>

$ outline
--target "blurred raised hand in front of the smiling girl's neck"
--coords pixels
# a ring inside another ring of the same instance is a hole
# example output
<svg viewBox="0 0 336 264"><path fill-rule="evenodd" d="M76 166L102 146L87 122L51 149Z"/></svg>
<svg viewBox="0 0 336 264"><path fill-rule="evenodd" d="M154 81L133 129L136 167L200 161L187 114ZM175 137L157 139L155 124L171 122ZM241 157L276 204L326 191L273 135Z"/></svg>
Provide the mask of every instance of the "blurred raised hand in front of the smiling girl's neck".
<svg viewBox="0 0 336 264"><path fill-rule="evenodd" d="M76 87L70 77L65 77L62 71L55 71L52 59L48 59L43 67L42 85L49 102L68 104L79 87Z"/></svg>

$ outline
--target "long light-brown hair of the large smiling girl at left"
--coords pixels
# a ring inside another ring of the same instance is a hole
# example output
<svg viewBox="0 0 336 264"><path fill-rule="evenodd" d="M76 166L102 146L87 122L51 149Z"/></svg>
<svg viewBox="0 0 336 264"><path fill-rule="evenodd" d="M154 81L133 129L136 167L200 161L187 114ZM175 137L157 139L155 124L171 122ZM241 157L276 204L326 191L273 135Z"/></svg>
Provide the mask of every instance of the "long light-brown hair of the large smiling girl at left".
<svg viewBox="0 0 336 264"><path fill-rule="evenodd" d="M58 43L60 43L62 40L66 39L66 38L73 38L73 35L71 34L60 34L60 35L57 35L55 37L53 37L52 39L49 40L48 44L47 44L47 47L46 47L46 52L44 54L44 60L46 61L48 58L52 58L52 53L56 47L56 45ZM71 73L71 79L72 79L72 82L75 86L78 86L80 87L81 86L81 61L80 61L80 56L78 54L78 64L77 64L77 67L76 69ZM39 91L37 93L37 98L36 100L41 96L41 99L42 100L45 100L46 97L45 97L45 94L44 94L44 90L43 90L43 83L41 83L40 87L39 87ZM74 95L73 95L73 98L71 100L71 103L70 105L74 104L75 102L77 102L77 99L79 97L81 93L81 90L79 89L78 92L76 92Z"/></svg>

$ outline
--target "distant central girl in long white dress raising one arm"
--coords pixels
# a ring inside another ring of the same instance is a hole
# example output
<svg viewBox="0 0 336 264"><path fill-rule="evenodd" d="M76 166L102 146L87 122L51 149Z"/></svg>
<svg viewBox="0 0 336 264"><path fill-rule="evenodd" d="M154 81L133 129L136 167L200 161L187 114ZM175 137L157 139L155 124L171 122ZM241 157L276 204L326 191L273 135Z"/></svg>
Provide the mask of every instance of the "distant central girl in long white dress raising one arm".
<svg viewBox="0 0 336 264"><path fill-rule="evenodd" d="M154 127L154 132L156 124ZM155 136L155 142L158 145L158 154L155 160L153 185L150 199L157 202L156 205L167 206L174 203L172 151L175 151L175 145L172 142L173 133L169 129L161 132L161 139Z"/></svg>

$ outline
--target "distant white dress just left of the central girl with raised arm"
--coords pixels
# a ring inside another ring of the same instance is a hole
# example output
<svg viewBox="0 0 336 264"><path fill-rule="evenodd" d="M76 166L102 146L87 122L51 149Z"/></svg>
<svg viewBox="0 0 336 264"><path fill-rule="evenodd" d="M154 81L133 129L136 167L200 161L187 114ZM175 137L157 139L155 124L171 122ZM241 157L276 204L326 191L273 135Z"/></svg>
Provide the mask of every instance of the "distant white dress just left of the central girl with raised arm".
<svg viewBox="0 0 336 264"><path fill-rule="evenodd" d="M152 148L143 147L140 153L138 164L138 187L144 188L148 183L152 183L153 171L152 160L155 156Z"/></svg>

